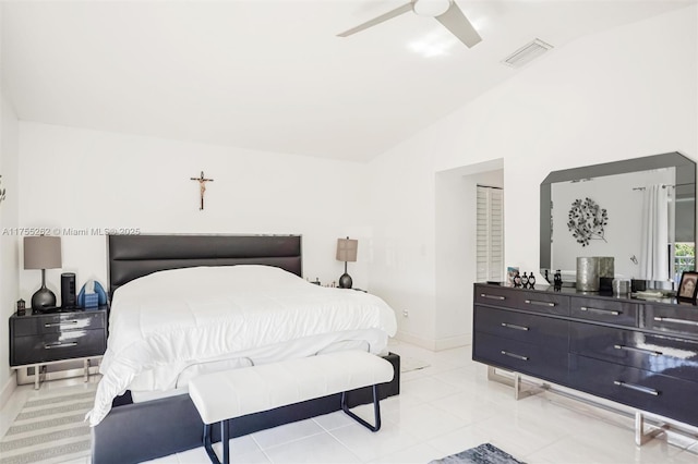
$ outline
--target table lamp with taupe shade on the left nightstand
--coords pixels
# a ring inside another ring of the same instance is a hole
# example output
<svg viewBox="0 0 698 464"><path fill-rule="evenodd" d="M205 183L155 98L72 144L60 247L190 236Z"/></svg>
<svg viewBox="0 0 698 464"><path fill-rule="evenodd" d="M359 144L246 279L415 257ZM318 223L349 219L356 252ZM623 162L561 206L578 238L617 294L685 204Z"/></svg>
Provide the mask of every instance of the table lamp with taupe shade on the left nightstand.
<svg viewBox="0 0 698 464"><path fill-rule="evenodd" d="M41 269L41 288L32 296L32 309L56 307L56 294L46 288L46 269L60 267L60 237L46 235L24 237L24 269Z"/></svg>

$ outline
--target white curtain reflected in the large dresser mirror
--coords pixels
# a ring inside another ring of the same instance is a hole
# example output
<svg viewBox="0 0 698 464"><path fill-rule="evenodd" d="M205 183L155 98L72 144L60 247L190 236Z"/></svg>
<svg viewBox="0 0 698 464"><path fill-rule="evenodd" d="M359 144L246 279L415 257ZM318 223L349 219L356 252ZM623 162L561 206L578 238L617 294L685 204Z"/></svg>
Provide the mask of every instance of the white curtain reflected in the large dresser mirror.
<svg viewBox="0 0 698 464"><path fill-rule="evenodd" d="M648 185L642 198L640 279L669 280L669 193Z"/></svg>

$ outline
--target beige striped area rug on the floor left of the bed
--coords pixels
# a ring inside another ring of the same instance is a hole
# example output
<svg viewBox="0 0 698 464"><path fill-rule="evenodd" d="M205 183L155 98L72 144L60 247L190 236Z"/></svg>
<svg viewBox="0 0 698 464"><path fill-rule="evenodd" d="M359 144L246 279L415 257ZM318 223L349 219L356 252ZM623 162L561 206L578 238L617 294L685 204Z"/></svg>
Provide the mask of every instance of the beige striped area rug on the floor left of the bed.
<svg viewBox="0 0 698 464"><path fill-rule="evenodd" d="M96 383L67 387L29 398L0 441L0 464L61 463L89 456L85 413Z"/></svg>

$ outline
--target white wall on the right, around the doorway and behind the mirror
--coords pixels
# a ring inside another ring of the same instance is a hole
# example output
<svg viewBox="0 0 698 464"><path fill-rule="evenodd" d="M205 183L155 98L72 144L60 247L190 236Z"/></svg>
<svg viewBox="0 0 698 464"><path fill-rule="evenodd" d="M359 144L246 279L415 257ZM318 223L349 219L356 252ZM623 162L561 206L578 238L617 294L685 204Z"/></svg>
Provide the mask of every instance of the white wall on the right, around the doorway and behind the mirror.
<svg viewBox="0 0 698 464"><path fill-rule="evenodd" d="M697 17L693 5L554 49L370 163L371 285L409 312L401 337L440 345L435 172L503 158L506 264L538 270L550 171L667 151L698 159Z"/></svg>

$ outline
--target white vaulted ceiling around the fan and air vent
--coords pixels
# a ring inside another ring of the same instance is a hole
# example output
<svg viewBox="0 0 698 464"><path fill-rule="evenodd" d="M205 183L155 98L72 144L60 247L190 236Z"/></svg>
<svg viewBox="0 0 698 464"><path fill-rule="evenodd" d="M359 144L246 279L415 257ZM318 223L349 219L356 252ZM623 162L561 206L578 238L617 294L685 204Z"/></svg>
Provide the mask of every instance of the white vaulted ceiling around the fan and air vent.
<svg viewBox="0 0 698 464"><path fill-rule="evenodd" d="M336 36L407 2L3 1L2 89L26 121L365 161L534 66L501 63L534 38L695 0L456 0L470 49L411 11Z"/></svg>

